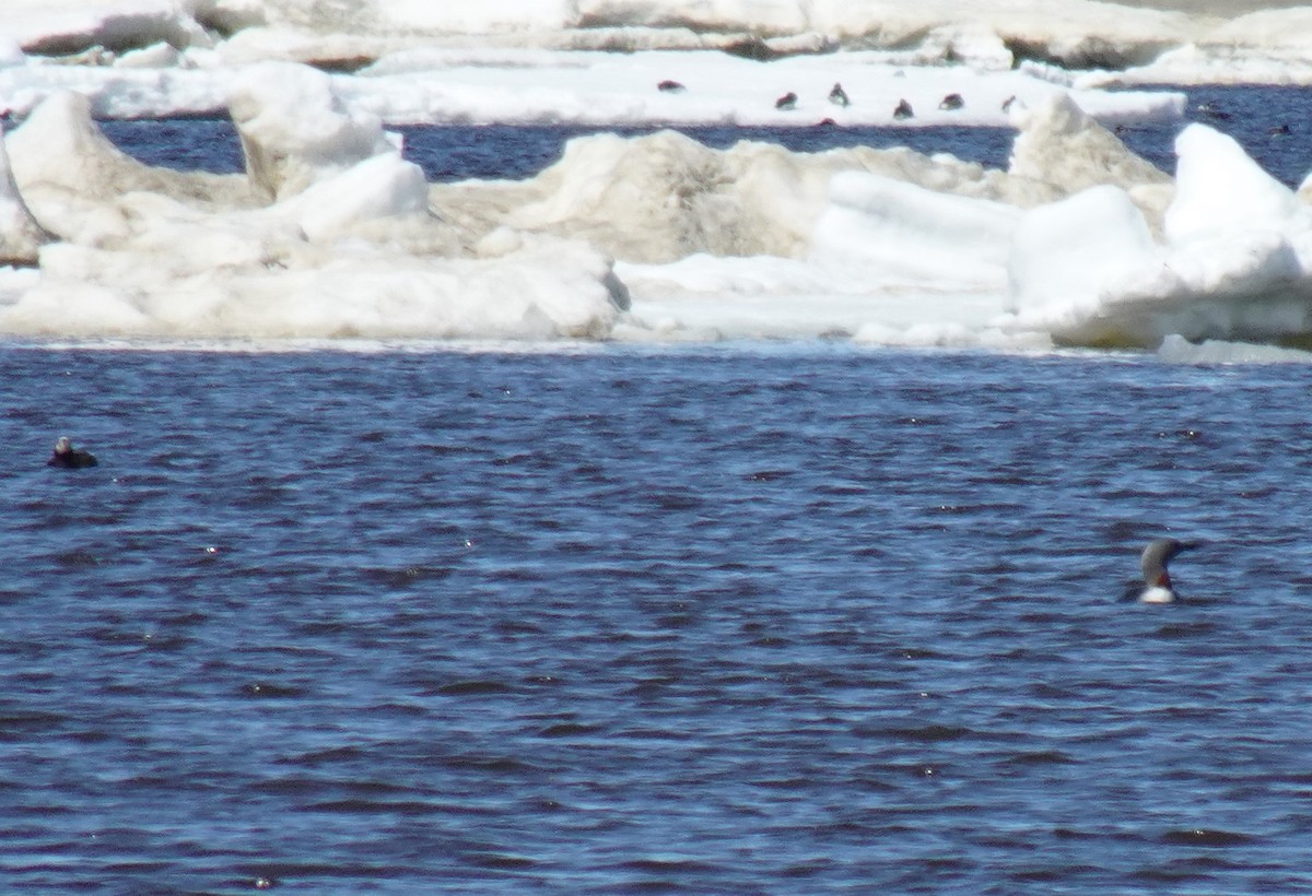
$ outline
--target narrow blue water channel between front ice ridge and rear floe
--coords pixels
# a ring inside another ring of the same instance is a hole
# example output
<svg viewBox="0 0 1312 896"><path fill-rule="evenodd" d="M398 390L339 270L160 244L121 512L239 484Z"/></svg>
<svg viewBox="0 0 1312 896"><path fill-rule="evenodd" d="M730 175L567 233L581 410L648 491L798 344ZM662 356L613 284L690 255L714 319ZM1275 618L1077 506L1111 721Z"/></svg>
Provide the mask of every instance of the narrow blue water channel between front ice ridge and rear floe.
<svg viewBox="0 0 1312 896"><path fill-rule="evenodd" d="M1186 122L1203 122L1229 134L1266 171L1290 186L1312 172L1312 91L1291 87L1200 87L1189 96ZM1174 172L1173 140L1182 122L1126 125L1118 134L1135 152ZM188 171L243 171L241 147L227 119L109 121L105 132L143 161ZM1271 132L1277 130L1278 132ZM468 177L531 177L560 159L565 140L598 129L551 126L400 127L407 157L430 181ZM656 129L614 129L626 135ZM950 152L991 168L1006 168L1014 132L997 127L687 127L706 146L727 148L737 140L779 143L794 151L836 147L907 146L920 152Z"/></svg>

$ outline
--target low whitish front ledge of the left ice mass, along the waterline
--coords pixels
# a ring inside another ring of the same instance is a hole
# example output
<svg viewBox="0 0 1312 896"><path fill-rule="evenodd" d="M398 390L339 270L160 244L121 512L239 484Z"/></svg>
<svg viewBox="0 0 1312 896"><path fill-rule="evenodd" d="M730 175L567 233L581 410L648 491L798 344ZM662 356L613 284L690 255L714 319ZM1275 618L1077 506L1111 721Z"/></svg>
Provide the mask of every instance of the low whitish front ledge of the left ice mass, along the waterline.
<svg viewBox="0 0 1312 896"><path fill-rule="evenodd" d="M291 252L276 265L230 257L205 266L178 265L167 248L146 241L113 252L56 244L42 252L41 281L0 307L0 332L604 338L619 314L617 286L604 256L563 243L531 243L495 258L428 258L354 244Z"/></svg>

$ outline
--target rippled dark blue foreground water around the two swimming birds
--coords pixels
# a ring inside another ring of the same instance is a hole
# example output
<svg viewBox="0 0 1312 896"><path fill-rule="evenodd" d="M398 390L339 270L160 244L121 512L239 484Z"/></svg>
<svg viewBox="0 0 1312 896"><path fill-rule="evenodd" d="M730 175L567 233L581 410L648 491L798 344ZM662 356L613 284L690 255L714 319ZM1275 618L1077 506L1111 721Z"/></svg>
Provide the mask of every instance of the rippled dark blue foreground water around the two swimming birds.
<svg viewBox="0 0 1312 896"><path fill-rule="evenodd" d="M0 369L5 889L1312 888L1303 366Z"/></svg>

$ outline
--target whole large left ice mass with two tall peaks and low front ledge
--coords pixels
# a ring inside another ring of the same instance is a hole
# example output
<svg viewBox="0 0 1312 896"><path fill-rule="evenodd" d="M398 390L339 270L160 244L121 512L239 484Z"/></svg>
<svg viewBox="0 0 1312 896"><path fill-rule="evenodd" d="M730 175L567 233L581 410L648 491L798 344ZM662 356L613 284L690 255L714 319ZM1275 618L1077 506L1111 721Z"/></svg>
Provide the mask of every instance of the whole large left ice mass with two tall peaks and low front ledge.
<svg viewBox="0 0 1312 896"><path fill-rule="evenodd" d="M300 165L312 182L262 207L249 189L228 189L244 185L241 176L215 181L122 156L91 122L85 97L42 104L9 139L24 198L63 241L41 249L35 282L4 278L0 332L609 335L627 294L605 255L581 243L516 236L472 257L472 240L428 213L422 172L382 139L377 119L340 113L316 73L282 73L293 84L269 88L268 104L252 101L251 119L264 150ZM290 134L258 121L293 98L302 104L298 118L281 122ZM298 132L297 122L308 127ZM290 148L276 143L282 136Z"/></svg>

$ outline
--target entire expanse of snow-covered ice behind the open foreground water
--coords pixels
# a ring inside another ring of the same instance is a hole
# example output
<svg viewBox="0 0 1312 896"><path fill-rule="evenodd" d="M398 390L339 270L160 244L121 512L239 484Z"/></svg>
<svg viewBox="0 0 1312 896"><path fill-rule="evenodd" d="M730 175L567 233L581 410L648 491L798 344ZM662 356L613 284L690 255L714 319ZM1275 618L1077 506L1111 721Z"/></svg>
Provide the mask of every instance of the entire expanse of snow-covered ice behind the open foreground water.
<svg viewBox="0 0 1312 896"><path fill-rule="evenodd" d="M1103 89L1225 60L1312 83L1303 13L909 7L9 0L0 333L840 337L1178 361L1312 337L1308 190L1202 125L1164 173L1111 127L1178 121L1183 94ZM828 98L836 83L846 105ZM901 101L912 118L895 118ZM197 112L231 115L244 173L150 168L94 125ZM533 178L428 184L387 130L827 119L1015 140L997 171L905 148L598 134Z"/></svg>

